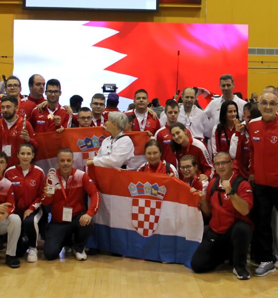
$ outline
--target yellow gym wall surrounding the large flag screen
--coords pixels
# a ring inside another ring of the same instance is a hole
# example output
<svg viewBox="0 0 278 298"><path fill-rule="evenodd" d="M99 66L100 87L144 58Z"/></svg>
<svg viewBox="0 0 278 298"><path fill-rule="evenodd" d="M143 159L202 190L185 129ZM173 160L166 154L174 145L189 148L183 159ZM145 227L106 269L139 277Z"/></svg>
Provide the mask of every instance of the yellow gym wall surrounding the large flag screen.
<svg viewBox="0 0 278 298"><path fill-rule="evenodd" d="M10 57L0 58L0 74L12 73L14 19L249 24L249 47L278 48L277 11L278 0L202 0L201 5L164 4L157 13L23 10L21 0L0 0L0 56ZM45 32L34 36L34 46L38 50L45 36ZM278 67L278 56L249 56L248 60L249 67ZM248 70L249 95L260 93L269 84L278 86L278 69Z"/></svg>

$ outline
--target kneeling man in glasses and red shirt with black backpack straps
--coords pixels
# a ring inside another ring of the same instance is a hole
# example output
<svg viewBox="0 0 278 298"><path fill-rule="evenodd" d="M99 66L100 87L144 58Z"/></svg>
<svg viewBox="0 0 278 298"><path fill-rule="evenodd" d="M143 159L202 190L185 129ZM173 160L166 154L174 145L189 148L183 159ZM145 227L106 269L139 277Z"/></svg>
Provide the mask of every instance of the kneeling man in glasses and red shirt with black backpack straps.
<svg viewBox="0 0 278 298"><path fill-rule="evenodd" d="M211 219L191 267L197 273L207 272L231 257L233 273L238 279L247 280L247 249L252 237L252 223L247 215L253 206L253 193L249 182L234 174L232 162L226 152L215 154L219 177L209 182L207 195L199 192L200 208Z"/></svg>

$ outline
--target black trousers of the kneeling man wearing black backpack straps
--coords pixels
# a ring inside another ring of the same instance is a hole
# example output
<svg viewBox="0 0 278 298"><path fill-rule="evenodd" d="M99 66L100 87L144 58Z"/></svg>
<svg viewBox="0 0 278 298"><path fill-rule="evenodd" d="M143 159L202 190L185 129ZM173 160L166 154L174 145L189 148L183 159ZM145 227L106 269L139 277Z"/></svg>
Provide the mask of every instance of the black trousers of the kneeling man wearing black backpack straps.
<svg viewBox="0 0 278 298"><path fill-rule="evenodd" d="M209 228L192 257L192 269L197 273L211 271L230 256L235 268L245 267L251 238L252 228L244 222L235 223L224 234Z"/></svg>

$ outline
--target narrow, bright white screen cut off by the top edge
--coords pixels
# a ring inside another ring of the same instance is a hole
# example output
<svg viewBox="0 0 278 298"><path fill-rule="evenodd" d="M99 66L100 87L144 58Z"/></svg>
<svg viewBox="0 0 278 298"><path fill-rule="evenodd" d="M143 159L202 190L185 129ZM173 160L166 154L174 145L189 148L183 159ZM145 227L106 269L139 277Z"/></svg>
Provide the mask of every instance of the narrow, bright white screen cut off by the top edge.
<svg viewBox="0 0 278 298"><path fill-rule="evenodd" d="M158 0L23 0L24 8L66 8L66 9L158 9Z"/></svg>

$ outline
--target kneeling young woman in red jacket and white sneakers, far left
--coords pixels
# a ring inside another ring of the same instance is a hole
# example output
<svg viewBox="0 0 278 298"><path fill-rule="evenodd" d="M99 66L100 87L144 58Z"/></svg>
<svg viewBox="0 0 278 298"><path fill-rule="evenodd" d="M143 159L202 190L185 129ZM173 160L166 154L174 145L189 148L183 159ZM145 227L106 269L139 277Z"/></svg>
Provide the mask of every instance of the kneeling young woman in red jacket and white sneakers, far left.
<svg viewBox="0 0 278 298"><path fill-rule="evenodd" d="M11 181L14 189L15 211L22 220L22 230L28 237L29 253L27 262L38 260L37 240L39 236L38 223L42 218L41 195L44 187L43 170L31 164L34 158L34 148L22 144L18 148L19 164L8 168L5 177ZM22 238L22 237L21 237ZM22 241L18 241L18 253L25 253Z"/></svg>

